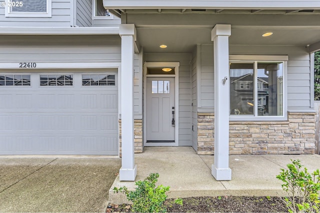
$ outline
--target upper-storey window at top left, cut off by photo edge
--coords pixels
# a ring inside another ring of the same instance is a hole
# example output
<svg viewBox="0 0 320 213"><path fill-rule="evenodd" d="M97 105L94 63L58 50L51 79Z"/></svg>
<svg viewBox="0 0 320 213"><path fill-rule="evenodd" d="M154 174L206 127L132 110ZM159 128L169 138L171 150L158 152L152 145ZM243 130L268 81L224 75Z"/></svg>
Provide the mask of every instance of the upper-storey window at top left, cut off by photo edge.
<svg viewBox="0 0 320 213"><path fill-rule="evenodd" d="M5 0L6 17L51 17L51 0Z"/></svg>

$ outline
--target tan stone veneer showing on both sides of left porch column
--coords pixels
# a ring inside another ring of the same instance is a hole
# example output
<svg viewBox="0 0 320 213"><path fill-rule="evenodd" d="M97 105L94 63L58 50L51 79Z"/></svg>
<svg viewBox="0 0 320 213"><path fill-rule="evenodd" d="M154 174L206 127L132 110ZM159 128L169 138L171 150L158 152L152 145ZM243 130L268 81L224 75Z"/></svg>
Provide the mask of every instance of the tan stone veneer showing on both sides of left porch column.
<svg viewBox="0 0 320 213"><path fill-rule="evenodd" d="M143 151L143 138L142 138L142 120L134 119L133 124L134 129L134 153L142 153ZM121 120L119 120L119 149L120 149L120 157L121 157Z"/></svg>

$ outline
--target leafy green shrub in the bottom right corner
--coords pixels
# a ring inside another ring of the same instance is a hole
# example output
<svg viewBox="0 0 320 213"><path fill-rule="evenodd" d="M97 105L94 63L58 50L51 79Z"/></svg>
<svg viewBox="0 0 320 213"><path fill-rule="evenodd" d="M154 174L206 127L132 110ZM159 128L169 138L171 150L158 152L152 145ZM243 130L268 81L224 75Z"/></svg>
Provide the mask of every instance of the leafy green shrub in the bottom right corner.
<svg viewBox="0 0 320 213"><path fill-rule="evenodd" d="M299 160L291 160L291 162L292 164L286 165L287 170L281 169L280 174L276 176L283 182L281 187L289 195L284 197L288 211L319 213L319 170L309 174L305 167L302 169Z"/></svg>

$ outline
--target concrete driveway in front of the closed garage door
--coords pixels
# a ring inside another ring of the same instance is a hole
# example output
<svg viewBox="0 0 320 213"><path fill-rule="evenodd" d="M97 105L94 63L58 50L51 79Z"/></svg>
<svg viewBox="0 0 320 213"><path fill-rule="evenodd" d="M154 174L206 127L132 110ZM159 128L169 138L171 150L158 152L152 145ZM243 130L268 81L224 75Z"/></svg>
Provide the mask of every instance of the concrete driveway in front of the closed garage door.
<svg viewBox="0 0 320 213"><path fill-rule="evenodd" d="M103 212L120 163L0 157L0 212Z"/></svg>

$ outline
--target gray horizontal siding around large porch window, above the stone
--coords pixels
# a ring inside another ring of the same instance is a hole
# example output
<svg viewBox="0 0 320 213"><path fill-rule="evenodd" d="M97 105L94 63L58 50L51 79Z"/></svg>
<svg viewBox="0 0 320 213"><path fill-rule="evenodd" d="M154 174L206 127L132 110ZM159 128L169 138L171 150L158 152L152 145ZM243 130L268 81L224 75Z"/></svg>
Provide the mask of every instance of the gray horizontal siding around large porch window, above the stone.
<svg viewBox="0 0 320 213"><path fill-rule="evenodd" d="M199 108L213 108L213 46L200 45L201 79ZM310 109L310 58L304 46L243 46L230 45L229 54L237 55L288 55L287 107L289 110Z"/></svg>

